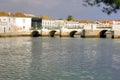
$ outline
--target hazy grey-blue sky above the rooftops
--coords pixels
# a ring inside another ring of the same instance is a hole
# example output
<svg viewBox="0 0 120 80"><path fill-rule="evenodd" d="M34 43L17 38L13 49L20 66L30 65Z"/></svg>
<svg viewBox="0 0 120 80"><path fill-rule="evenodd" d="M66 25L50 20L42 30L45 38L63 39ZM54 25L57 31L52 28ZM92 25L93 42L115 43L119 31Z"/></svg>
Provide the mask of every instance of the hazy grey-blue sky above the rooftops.
<svg viewBox="0 0 120 80"><path fill-rule="evenodd" d="M82 0L0 0L0 11L47 15L66 19L72 15L78 20L120 20L120 11L107 15L101 7L85 7Z"/></svg>

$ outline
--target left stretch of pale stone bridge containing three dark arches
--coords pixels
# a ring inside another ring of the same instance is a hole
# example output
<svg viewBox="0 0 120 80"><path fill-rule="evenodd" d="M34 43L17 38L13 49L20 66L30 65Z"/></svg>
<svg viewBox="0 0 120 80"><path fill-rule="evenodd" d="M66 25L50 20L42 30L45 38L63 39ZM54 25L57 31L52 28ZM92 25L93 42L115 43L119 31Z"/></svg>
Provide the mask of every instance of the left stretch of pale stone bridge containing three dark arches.
<svg viewBox="0 0 120 80"><path fill-rule="evenodd" d="M74 35L81 35L83 29L41 29L31 30L33 36L48 36L48 37L74 37Z"/></svg>

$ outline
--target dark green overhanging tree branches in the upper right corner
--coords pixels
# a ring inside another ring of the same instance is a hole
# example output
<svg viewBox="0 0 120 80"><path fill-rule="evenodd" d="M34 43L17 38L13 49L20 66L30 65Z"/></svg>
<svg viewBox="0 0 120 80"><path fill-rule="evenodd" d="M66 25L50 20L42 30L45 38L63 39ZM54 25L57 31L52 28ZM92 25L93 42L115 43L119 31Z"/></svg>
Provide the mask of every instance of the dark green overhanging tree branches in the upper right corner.
<svg viewBox="0 0 120 80"><path fill-rule="evenodd" d="M102 11L111 14L116 13L120 9L120 0L83 0L84 5L102 6Z"/></svg>

